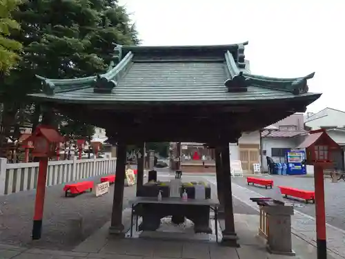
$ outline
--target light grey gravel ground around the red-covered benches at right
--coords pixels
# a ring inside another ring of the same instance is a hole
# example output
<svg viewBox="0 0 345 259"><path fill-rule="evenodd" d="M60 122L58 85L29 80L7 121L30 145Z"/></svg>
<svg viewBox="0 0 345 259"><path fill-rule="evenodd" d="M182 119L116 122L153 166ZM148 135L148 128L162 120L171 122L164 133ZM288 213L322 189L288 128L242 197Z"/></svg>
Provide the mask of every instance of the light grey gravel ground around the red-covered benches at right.
<svg viewBox="0 0 345 259"><path fill-rule="evenodd" d="M275 186L291 186L297 189L314 191L314 178L293 175L268 175L264 178L273 178ZM246 184L246 178L232 178L232 180L236 184L244 186L252 191L256 191L262 195L270 196L275 192L275 187L272 190L266 190L264 187L260 186L248 186ZM326 222L334 227L345 230L345 182L341 180L340 182L334 184L331 183L331 179L326 178L324 180L324 186ZM306 204L303 200L284 200L295 203L297 205L295 208L297 211L301 211L302 213L315 217L315 204Z"/></svg>

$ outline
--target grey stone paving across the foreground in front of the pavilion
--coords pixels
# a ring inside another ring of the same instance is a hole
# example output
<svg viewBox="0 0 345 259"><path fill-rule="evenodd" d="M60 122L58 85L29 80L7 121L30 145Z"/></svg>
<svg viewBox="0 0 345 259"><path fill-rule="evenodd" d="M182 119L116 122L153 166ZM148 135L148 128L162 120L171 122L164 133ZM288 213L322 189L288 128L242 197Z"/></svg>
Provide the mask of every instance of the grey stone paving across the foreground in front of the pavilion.
<svg viewBox="0 0 345 259"><path fill-rule="evenodd" d="M267 253L264 240L257 238L258 215L235 214L240 248L222 247L215 242L195 240L157 240L155 238L112 239L106 229L97 231L79 249L52 251L23 249L0 244L1 259L314 259L316 249L304 240L293 236L297 256L277 256ZM107 227L107 226L106 226ZM94 244L99 244L95 246ZM86 245L83 245L86 244ZM329 259L338 259L328 255Z"/></svg>

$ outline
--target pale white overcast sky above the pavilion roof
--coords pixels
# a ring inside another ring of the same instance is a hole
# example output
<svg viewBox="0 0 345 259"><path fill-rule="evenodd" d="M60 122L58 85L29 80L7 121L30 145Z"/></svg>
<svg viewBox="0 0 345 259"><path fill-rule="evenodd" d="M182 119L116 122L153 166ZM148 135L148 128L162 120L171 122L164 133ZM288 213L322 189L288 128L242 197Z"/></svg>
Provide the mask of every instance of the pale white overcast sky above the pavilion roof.
<svg viewBox="0 0 345 259"><path fill-rule="evenodd" d="M249 41L253 74L299 77L316 72L308 107L345 111L344 0L119 0L143 45L208 45ZM343 25L343 26L342 26Z"/></svg>

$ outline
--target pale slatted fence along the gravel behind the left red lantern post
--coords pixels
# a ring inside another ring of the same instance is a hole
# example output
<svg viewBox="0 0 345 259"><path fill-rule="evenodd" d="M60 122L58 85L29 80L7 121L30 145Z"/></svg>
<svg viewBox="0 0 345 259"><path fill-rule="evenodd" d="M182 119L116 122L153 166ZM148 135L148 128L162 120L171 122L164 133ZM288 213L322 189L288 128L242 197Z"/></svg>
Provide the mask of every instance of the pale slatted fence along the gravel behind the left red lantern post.
<svg viewBox="0 0 345 259"><path fill-rule="evenodd" d="M0 158L0 195L36 189L39 163L7 164ZM116 158L50 161L47 186L115 173Z"/></svg>

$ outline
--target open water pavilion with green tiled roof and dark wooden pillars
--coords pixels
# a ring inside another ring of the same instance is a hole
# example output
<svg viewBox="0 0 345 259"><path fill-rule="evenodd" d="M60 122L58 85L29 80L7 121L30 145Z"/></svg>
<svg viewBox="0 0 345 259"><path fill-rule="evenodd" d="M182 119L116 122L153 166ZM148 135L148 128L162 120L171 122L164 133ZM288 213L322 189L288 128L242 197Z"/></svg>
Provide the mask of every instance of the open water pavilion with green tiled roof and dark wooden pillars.
<svg viewBox="0 0 345 259"><path fill-rule="evenodd" d="M126 145L201 142L215 148L223 242L237 245L229 143L296 112L320 97L305 77L253 75L248 42L224 46L117 46L107 73L77 79L39 77L35 102L106 129L117 145L117 178L110 232L123 234ZM51 111L51 110L50 110ZM139 164L138 187L142 184ZM137 187L137 188L138 188Z"/></svg>

